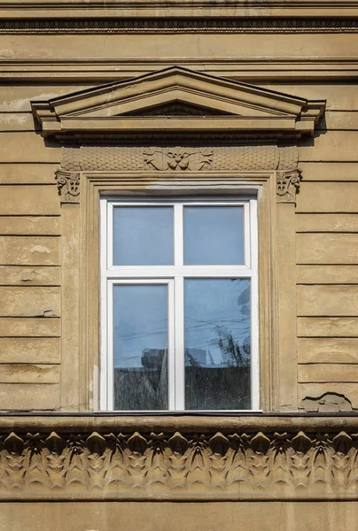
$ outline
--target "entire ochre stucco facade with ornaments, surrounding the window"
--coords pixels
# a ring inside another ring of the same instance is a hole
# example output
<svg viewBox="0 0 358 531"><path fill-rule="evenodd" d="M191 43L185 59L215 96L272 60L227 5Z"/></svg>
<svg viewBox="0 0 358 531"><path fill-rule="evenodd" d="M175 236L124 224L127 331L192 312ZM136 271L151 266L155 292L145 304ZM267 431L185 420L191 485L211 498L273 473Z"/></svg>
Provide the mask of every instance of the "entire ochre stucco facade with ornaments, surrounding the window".
<svg viewBox="0 0 358 531"><path fill-rule="evenodd" d="M0 528L356 529L357 10L0 5ZM99 198L243 193L259 411L100 411Z"/></svg>

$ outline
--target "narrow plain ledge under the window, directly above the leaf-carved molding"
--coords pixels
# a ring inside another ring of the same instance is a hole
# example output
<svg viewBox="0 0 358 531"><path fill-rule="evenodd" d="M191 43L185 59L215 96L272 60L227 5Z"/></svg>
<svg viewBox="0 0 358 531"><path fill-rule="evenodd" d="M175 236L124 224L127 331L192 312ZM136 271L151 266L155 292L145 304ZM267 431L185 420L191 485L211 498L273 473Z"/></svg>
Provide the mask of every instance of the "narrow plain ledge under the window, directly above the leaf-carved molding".
<svg viewBox="0 0 358 531"><path fill-rule="evenodd" d="M173 414L143 415L138 413L1 413L0 433L11 431L40 431L51 433L86 433L92 431L134 431L167 432L179 430L183 433L198 431L208 434L215 431L262 431L263 433L281 431L305 431L307 434L353 431L358 433L358 412L325 413L239 413L237 415L199 415Z"/></svg>

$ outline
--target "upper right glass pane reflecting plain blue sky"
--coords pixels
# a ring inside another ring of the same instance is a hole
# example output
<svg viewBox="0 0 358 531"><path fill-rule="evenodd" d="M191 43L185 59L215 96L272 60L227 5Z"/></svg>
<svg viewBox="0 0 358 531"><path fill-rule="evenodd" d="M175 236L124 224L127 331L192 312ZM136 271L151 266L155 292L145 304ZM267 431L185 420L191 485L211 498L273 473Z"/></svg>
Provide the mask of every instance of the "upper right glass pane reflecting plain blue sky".
<svg viewBox="0 0 358 531"><path fill-rule="evenodd" d="M244 264L243 207L185 206L184 264Z"/></svg>

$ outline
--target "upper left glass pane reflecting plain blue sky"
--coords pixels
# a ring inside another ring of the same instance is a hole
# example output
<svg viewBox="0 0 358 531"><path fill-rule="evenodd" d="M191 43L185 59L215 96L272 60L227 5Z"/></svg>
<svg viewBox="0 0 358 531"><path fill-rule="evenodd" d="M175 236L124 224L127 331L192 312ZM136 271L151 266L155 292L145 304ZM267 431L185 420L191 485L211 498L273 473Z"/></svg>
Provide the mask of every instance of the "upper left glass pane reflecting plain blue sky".
<svg viewBox="0 0 358 531"><path fill-rule="evenodd" d="M114 266L171 266L173 240L172 206L113 208Z"/></svg>

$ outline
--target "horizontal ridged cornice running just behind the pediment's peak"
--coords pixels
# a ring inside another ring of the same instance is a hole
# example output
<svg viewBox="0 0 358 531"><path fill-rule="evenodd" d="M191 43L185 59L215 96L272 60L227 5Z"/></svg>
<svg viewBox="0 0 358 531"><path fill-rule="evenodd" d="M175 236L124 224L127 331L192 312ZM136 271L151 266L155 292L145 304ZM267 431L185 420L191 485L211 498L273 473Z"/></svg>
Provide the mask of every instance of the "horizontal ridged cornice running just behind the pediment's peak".
<svg viewBox="0 0 358 531"><path fill-rule="evenodd" d="M0 59L2 81L105 82L125 80L171 65L241 81L358 78L358 58L33 58Z"/></svg>

